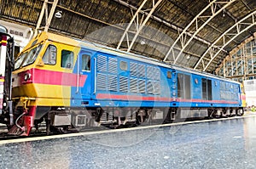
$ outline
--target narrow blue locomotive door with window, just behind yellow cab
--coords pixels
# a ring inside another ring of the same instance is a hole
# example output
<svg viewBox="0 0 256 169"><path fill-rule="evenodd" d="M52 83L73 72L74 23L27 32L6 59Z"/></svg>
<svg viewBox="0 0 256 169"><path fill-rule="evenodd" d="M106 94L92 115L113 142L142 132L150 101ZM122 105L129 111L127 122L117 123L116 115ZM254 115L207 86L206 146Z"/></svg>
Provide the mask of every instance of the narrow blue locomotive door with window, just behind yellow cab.
<svg viewBox="0 0 256 169"><path fill-rule="evenodd" d="M79 54L79 74L80 82L84 82L80 86L80 92L83 99L91 99L91 54L90 52L81 51Z"/></svg>

